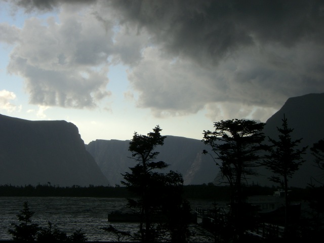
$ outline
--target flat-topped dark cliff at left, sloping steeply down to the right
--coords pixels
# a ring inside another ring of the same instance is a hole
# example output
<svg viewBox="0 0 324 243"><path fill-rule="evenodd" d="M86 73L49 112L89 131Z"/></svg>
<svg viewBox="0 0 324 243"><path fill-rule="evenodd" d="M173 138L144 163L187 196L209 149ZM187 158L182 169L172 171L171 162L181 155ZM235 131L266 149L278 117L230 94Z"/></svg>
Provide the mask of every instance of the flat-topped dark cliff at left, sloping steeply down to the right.
<svg viewBox="0 0 324 243"><path fill-rule="evenodd" d="M75 125L0 115L0 184L108 185Z"/></svg>

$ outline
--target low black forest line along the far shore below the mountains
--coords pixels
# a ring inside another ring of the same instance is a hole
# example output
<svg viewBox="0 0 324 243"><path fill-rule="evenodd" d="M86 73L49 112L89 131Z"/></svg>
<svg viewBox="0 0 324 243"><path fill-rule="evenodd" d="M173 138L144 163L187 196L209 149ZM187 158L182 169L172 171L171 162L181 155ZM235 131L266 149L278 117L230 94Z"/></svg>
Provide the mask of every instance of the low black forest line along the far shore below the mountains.
<svg viewBox="0 0 324 243"><path fill-rule="evenodd" d="M303 200L307 197L310 188L290 188L293 200ZM275 187L251 185L244 188L246 196L272 195ZM228 186L217 186L213 183L202 185L183 186L183 195L193 199L228 200ZM123 186L93 186L82 187L73 185L71 187L60 187L58 185L38 184L14 186L0 185L0 196L72 196L72 197L130 197L127 187Z"/></svg>

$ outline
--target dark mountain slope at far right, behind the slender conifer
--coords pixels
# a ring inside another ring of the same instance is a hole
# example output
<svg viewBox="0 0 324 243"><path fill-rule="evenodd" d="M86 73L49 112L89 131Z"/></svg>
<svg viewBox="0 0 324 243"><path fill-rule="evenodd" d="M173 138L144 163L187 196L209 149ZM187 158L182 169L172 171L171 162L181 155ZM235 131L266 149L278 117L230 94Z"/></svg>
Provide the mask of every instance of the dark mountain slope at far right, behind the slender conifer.
<svg viewBox="0 0 324 243"><path fill-rule="evenodd" d="M266 136L278 140L277 127L281 128L284 114L288 121L288 127L294 129L291 134L292 139L302 138L300 147L308 146L306 154L303 156L306 161L293 175L289 185L305 187L315 180L321 180L324 173L314 166L314 157L309 150L315 142L324 139L324 93L289 98L281 109L266 121L264 128ZM267 177L270 176L269 172L260 169L260 173L263 176L259 176L256 181L269 184L267 181Z"/></svg>

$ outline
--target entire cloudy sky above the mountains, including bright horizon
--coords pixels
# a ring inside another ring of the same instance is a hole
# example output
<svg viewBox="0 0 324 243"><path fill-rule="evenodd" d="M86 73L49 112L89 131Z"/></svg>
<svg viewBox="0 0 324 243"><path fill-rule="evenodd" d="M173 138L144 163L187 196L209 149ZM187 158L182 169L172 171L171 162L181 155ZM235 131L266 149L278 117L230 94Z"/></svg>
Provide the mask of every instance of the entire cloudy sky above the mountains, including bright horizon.
<svg viewBox="0 0 324 243"><path fill-rule="evenodd" d="M323 1L0 0L0 113L202 139L324 92Z"/></svg>

